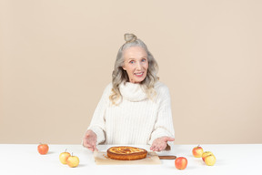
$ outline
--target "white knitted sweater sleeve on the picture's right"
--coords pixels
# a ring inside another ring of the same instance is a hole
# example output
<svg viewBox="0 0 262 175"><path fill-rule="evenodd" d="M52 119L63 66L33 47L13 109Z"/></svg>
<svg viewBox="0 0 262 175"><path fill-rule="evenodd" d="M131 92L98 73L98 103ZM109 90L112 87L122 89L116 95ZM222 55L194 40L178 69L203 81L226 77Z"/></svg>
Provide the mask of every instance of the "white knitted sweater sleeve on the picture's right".
<svg viewBox="0 0 262 175"><path fill-rule="evenodd" d="M149 140L150 145L152 145L155 139L164 136L175 138L169 90L166 86L164 86L161 87L158 93L160 107L158 109L155 127Z"/></svg>

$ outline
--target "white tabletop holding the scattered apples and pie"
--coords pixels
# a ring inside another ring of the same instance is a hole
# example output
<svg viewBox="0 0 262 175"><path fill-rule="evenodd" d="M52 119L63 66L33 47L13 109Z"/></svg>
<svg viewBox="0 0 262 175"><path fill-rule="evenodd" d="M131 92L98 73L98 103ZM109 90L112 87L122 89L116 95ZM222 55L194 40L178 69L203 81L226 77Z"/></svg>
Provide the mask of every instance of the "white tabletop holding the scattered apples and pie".
<svg viewBox="0 0 262 175"><path fill-rule="evenodd" d="M106 150L108 147L110 146L99 146L98 149ZM201 158L194 158L194 147L196 145L174 145L171 151L159 153L186 157L186 170L176 170L175 160L161 160L160 165L96 165L93 152L81 145L50 144L49 152L40 155L37 144L0 144L0 174L262 174L262 144L201 145L204 151L212 151L216 156L214 166L207 166ZM79 158L78 167L69 168L60 163L59 154L65 149L74 152Z"/></svg>

